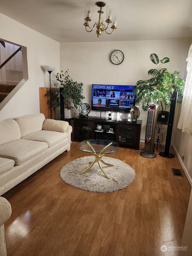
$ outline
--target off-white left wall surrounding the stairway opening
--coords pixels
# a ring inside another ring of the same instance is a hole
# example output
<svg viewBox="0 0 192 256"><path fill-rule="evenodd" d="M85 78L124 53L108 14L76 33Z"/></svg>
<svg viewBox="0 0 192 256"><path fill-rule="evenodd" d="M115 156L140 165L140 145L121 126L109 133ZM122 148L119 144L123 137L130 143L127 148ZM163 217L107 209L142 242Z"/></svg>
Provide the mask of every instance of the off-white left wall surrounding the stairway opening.
<svg viewBox="0 0 192 256"><path fill-rule="evenodd" d="M39 87L49 87L44 65L59 69L59 43L0 14L1 40L27 48L29 79L0 111L0 121L39 112ZM51 80L55 82L53 71Z"/></svg>

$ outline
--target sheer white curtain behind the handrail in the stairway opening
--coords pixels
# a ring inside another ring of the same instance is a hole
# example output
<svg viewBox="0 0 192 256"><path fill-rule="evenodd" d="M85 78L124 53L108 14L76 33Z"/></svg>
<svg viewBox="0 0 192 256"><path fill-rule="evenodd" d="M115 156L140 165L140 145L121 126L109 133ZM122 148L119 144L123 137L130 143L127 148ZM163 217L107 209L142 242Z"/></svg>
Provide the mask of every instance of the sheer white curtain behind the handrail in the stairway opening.
<svg viewBox="0 0 192 256"><path fill-rule="evenodd" d="M9 58L18 48L19 46L17 45L5 42L5 59ZM6 70L22 71L22 52L19 51L16 53L16 55L7 62L5 67Z"/></svg>

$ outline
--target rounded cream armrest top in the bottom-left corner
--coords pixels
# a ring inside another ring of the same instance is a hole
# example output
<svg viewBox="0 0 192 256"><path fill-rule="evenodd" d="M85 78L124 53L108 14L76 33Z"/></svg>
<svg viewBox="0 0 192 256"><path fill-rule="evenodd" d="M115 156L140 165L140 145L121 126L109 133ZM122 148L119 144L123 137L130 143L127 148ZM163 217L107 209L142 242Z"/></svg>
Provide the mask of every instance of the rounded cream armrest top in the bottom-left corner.
<svg viewBox="0 0 192 256"><path fill-rule="evenodd" d="M10 218L11 212L10 203L4 197L0 197L0 226Z"/></svg>

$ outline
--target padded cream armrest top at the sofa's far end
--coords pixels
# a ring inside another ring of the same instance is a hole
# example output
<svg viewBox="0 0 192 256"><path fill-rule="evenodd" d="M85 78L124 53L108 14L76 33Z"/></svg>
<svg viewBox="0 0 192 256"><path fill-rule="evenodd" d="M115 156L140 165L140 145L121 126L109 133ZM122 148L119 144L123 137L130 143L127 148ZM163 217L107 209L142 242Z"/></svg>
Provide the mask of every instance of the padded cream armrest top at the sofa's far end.
<svg viewBox="0 0 192 256"><path fill-rule="evenodd" d="M43 130L65 132L69 123L61 120L46 119L43 123Z"/></svg>

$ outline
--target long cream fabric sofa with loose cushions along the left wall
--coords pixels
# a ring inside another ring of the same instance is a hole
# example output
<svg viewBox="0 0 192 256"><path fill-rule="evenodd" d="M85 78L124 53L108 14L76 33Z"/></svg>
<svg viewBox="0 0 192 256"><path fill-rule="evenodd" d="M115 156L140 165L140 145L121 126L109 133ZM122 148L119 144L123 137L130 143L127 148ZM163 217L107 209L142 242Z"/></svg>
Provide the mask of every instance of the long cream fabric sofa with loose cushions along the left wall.
<svg viewBox="0 0 192 256"><path fill-rule="evenodd" d="M72 127L42 113L0 122L0 195L64 151Z"/></svg>

